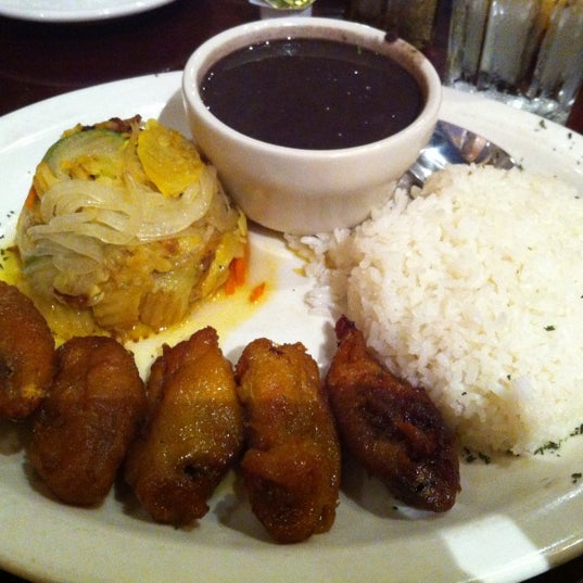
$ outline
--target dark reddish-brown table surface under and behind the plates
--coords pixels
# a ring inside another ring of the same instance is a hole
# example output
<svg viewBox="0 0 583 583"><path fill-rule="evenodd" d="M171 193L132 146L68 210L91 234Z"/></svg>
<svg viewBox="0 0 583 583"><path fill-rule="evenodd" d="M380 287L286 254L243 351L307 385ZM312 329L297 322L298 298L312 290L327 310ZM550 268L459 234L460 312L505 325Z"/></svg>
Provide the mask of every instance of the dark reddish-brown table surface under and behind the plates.
<svg viewBox="0 0 583 583"><path fill-rule="evenodd" d="M314 14L342 17L344 4L318 0ZM81 87L179 71L201 42L257 18L246 0L176 0L131 16L76 24L0 17L0 115ZM427 50L440 71L447 18L448 2L442 0L435 41ZM583 134L583 91L567 125ZM0 581L24 583L1 570ZM529 583L583 583L583 557Z"/></svg>

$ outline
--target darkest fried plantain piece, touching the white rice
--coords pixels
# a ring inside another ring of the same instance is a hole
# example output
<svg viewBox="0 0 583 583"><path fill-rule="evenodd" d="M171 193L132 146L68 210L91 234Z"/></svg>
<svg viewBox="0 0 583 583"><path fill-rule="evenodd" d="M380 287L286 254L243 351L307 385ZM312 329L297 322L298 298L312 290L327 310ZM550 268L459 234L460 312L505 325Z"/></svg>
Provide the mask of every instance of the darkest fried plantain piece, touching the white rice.
<svg viewBox="0 0 583 583"><path fill-rule="evenodd" d="M335 330L326 390L342 443L396 498L449 510L460 490L454 433L422 388L397 379L369 354L353 322L341 317Z"/></svg>

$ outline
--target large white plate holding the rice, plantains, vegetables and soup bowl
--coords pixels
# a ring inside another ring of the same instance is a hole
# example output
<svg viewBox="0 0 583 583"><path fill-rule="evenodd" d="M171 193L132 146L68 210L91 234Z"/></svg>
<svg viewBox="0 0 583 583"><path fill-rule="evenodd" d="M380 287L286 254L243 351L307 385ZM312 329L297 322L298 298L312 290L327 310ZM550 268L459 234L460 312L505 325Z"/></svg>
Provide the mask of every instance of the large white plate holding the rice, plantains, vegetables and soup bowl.
<svg viewBox="0 0 583 583"><path fill-rule="evenodd" d="M10 239L36 163L61 131L111 116L159 116L188 131L180 74L141 77L54 98L0 118L0 228ZM528 168L583 185L583 137L502 104L446 90L442 117L506 147ZM251 279L271 293L239 325L216 319L231 359L258 335L302 341L326 366L330 322L309 314L309 282L278 237L252 235ZM266 267L267 266L267 267ZM252 281L253 283L253 281ZM274 289L275 288L275 289ZM215 324L213 309L205 321ZM182 333L187 333L187 329ZM155 342L140 346L145 367ZM170 339L170 342L176 338ZM520 581L583 553L583 438L558 455L461 462L462 492L445 515L395 505L358 470L346 472L338 517L327 534L299 545L271 543L227 482L210 514L190 530L132 514L118 492L97 509L52 502L35 487L22 448L0 426L0 565L42 581L461 583ZM16 446L13 447L16 442Z"/></svg>

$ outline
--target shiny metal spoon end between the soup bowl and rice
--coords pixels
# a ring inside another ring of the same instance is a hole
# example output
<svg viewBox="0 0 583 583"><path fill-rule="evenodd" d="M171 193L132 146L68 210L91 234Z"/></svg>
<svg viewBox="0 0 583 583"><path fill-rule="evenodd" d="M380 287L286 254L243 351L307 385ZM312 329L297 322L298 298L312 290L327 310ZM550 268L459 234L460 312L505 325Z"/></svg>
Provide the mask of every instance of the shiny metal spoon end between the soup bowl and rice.
<svg viewBox="0 0 583 583"><path fill-rule="evenodd" d="M439 121L433 136L413 166L398 181L401 188L422 186L431 174L449 164L490 164L509 169L517 166L499 145L469 129Z"/></svg>

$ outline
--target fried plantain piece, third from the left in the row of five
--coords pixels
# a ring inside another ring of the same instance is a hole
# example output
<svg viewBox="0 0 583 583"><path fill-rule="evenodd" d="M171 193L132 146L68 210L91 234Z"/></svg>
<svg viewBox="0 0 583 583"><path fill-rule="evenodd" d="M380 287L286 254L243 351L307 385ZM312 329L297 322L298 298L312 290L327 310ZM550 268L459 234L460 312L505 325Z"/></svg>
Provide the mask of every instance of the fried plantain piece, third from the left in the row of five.
<svg viewBox="0 0 583 583"><path fill-rule="evenodd" d="M243 445L232 366L216 331L207 327L164 345L147 389L148 421L130 447L125 478L154 520L188 524L207 512Z"/></svg>

